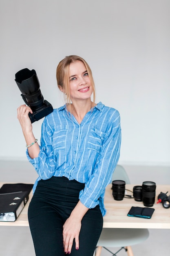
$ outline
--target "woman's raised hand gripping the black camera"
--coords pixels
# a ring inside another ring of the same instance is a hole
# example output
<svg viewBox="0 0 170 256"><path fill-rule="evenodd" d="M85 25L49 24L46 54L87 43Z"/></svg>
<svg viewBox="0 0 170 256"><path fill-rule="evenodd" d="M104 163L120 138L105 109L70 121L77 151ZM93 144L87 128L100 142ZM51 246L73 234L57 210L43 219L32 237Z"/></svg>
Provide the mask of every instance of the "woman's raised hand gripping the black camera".
<svg viewBox="0 0 170 256"><path fill-rule="evenodd" d="M17 109L17 118L20 122L23 133L32 132L32 124L29 118L29 112L32 114L33 111L26 105L21 105Z"/></svg>

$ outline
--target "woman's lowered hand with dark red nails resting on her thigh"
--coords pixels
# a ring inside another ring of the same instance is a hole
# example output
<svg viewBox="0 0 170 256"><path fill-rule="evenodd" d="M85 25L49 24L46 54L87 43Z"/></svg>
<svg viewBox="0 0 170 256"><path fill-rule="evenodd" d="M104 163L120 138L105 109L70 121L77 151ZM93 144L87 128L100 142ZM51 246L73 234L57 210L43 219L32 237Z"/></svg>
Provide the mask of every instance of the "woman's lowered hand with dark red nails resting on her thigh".
<svg viewBox="0 0 170 256"><path fill-rule="evenodd" d="M79 232L82 223L78 218L70 216L63 226L63 245L64 253L70 254L73 246L73 240L75 238L75 249L79 249Z"/></svg>

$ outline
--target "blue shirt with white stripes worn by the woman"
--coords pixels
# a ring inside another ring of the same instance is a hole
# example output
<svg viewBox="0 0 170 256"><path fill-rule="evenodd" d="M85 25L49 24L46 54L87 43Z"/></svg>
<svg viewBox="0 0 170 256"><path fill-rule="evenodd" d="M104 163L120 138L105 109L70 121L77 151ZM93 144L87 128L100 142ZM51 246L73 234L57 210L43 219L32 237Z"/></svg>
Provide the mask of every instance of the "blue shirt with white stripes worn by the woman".
<svg viewBox="0 0 170 256"><path fill-rule="evenodd" d="M121 144L119 112L99 102L81 124L66 111L54 109L42 123L38 157L31 159L40 179L65 176L84 183L79 200L88 208L97 204L104 216L104 192L117 165Z"/></svg>

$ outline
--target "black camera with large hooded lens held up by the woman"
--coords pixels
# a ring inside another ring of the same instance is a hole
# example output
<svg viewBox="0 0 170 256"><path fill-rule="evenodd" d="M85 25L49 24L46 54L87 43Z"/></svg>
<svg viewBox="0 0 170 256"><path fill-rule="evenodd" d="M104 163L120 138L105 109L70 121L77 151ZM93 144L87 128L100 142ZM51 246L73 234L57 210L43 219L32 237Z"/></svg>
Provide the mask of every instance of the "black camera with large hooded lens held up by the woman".
<svg viewBox="0 0 170 256"><path fill-rule="evenodd" d="M21 96L33 114L29 113L31 123L38 121L53 112L51 104L44 100L40 91L40 83L35 70L24 68L15 74L15 82L22 92Z"/></svg>

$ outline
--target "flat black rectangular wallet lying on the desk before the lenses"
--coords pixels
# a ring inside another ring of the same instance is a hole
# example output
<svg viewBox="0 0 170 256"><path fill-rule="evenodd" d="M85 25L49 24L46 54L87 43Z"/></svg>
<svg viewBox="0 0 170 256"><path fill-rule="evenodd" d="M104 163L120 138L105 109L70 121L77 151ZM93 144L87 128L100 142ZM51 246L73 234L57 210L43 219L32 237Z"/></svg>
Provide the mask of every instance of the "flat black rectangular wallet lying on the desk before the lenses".
<svg viewBox="0 0 170 256"><path fill-rule="evenodd" d="M128 216L150 219L154 211L155 209L153 208L132 206L128 212Z"/></svg>

